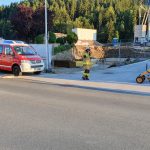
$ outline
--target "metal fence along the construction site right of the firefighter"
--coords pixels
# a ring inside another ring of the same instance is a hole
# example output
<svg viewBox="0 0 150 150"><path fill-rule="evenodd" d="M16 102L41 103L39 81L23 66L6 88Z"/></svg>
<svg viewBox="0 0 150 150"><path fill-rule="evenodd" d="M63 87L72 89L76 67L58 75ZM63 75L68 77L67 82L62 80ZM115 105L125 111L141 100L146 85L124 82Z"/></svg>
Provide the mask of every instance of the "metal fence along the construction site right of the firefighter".
<svg viewBox="0 0 150 150"><path fill-rule="evenodd" d="M117 46L107 43L103 48L105 55L100 60L101 63L123 65L150 59L150 47L146 45L121 42Z"/></svg>

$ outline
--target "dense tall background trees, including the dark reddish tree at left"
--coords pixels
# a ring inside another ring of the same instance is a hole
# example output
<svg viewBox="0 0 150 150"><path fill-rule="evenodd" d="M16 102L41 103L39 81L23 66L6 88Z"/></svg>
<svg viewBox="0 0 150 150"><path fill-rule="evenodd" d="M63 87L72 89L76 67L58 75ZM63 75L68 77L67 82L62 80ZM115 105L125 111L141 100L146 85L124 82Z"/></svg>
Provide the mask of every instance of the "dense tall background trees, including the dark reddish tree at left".
<svg viewBox="0 0 150 150"><path fill-rule="evenodd" d="M70 33L74 27L95 28L98 41L132 39L138 0L48 0L48 30ZM44 33L44 1L24 0L0 7L0 37L34 41Z"/></svg>

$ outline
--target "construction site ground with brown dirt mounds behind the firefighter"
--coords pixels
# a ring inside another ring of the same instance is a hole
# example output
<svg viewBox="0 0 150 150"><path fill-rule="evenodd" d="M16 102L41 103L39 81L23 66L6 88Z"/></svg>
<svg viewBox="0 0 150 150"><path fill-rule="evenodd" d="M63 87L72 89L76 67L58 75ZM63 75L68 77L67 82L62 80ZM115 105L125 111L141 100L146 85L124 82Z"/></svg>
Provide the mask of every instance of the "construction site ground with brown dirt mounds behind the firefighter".
<svg viewBox="0 0 150 150"><path fill-rule="evenodd" d="M91 58L99 65L120 66L144 61L150 58L150 47L134 42L122 42L117 46L112 43L101 44L95 40L79 40L75 47L53 56L55 67L81 67L86 47L91 49Z"/></svg>

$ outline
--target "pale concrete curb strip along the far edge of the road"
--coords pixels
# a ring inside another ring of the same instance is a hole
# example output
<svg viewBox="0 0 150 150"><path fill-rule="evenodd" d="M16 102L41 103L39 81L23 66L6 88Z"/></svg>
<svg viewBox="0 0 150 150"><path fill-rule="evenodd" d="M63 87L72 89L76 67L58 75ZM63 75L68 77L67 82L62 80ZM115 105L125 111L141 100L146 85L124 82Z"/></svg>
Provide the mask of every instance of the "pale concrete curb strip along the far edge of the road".
<svg viewBox="0 0 150 150"><path fill-rule="evenodd" d="M60 86L68 87L78 87L86 89L95 89L101 91L111 91L111 92L120 92L120 93L129 93L129 94L142 94L150 96L150 86L148 85L137 85L137 84L121 84L121 83L105 83L105 82L89 82L89 81L79 81L79 80L65 80L65 79L56 79L56 78L43 78L43 77L31 77L31 76L5 76L3 78L19 78L31 81L40 81L43 83L50 83Z"/></svg>

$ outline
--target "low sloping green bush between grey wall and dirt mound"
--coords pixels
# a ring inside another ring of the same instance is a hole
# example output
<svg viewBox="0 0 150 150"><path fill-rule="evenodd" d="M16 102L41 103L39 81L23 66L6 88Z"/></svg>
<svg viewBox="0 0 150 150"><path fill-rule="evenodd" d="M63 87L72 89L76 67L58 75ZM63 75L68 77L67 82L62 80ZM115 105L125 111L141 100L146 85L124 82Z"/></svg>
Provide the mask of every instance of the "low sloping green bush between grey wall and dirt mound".
<svg viewBox="0 0 150 150"><path fill-rule="evenodd" d="M64 51L68 51L72 48L71 45L60 45L58 47L54 48L54 55L58 54L58 53L62 53Z"/></svg>

